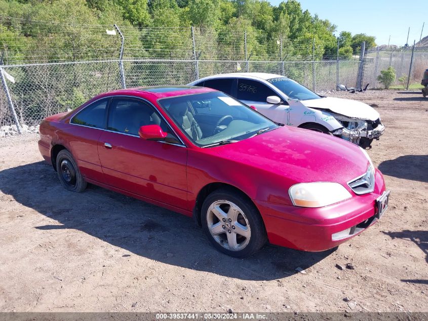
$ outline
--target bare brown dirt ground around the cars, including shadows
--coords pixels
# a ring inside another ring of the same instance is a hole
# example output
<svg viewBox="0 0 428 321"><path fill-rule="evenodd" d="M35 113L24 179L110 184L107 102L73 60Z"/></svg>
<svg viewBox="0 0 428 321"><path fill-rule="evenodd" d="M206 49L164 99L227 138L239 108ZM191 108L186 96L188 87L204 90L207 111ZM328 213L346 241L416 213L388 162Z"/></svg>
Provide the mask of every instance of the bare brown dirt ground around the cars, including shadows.
<svg viewBox="0 0 428 321"><path fill-rule="evenodd" d="M428 311L428 99L328 95L375 104L386 132L369 154L392 192L378 224L323 253L230 258L190 218L65 191L37 135L0 139L0 311Z"/></svg>

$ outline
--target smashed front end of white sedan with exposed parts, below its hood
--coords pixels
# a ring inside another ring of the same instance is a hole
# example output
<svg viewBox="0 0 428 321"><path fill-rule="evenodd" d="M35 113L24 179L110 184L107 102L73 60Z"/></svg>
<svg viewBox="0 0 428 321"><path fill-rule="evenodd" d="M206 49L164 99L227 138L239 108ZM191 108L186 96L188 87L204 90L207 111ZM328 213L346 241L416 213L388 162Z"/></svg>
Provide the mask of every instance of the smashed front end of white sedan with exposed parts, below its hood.
<svg viewBox="0 0 428 321"><path fill-rule="evenodd" d="M331 133L334 136L351 141L362 148L370 148L373 139L378 140L385 131L385 126L380 122L380 118L371 121L348 118L334 113L331 114L343 126Z"/></svg>

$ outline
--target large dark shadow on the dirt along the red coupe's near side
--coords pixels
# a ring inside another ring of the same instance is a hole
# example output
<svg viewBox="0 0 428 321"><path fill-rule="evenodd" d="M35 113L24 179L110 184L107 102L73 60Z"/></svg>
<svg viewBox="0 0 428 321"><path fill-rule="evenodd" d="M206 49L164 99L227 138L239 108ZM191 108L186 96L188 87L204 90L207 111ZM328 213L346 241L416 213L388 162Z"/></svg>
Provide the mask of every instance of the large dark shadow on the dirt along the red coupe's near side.
<svg viewBox="0 0 428 321"><path fill-rule="evenodd" d="M34 226L34 233L80 230L138 256L238 279L284 278L335 251L308 253L266 245L250 258L231 258L211 246L193 219L93 185L83 193L68 192L45 162L1 171L0 191L62 224Z"/></svg>

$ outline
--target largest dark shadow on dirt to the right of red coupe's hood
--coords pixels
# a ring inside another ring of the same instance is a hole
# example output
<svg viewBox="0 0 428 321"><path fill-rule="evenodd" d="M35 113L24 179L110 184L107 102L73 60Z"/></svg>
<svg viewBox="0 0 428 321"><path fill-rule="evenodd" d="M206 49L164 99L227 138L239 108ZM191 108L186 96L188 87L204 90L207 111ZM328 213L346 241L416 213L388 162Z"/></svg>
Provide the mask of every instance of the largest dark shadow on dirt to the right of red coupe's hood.
<svg viewBox="0 0 428 321"><path fill-rule="evenodd" d="M428 155L405 155L383 161L379 170L388 176L428 183Z"/></svg>

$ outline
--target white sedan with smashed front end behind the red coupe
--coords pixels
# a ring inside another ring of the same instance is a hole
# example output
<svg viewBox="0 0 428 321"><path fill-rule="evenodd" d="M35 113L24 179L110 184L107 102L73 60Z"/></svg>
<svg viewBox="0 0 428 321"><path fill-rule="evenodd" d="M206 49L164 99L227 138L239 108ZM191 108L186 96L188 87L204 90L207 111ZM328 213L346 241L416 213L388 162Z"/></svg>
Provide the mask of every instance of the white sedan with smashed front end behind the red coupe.
<svg viewBox="0 0 428 321"><path fill-rule="evenodd" d="M271 120L330 133L363 148L379 139L385 127L379 113L360 101L323 97L280 75L236 73L205 77L190 83L220 90Z"/></svg>

